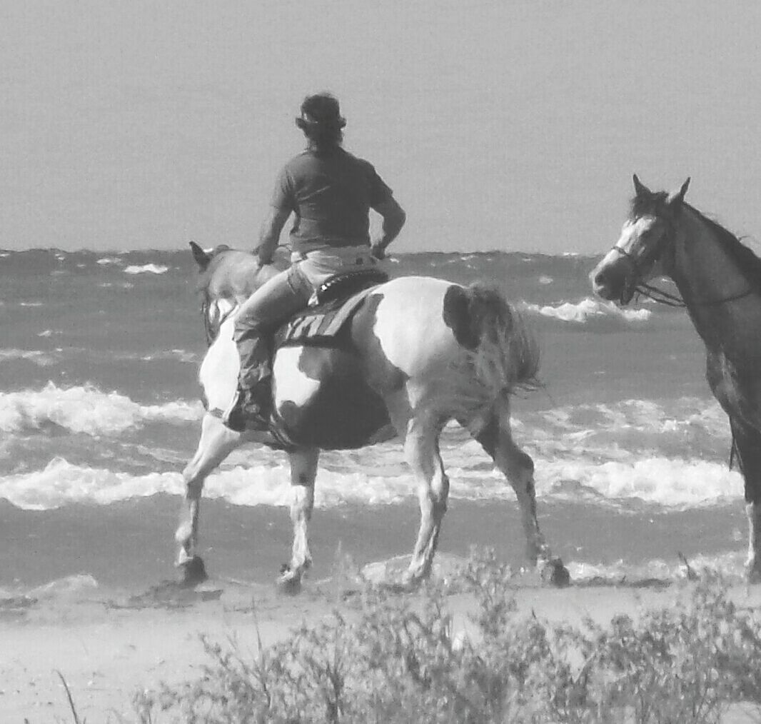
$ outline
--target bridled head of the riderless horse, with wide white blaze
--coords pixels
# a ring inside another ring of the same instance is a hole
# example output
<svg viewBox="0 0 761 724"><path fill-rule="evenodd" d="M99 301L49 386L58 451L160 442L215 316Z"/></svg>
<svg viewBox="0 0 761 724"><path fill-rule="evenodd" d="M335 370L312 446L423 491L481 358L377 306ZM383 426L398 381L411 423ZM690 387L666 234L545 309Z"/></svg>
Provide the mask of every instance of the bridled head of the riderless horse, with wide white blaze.
<svg viewBox="0 0 761 724"><path fill-rule="evenodd" d="M621 236L590 274L596 295L627 305L640 285L670 273L674 225L688 187L689 178L672 193L653 192L635 174L635 196Z"/></svg>

